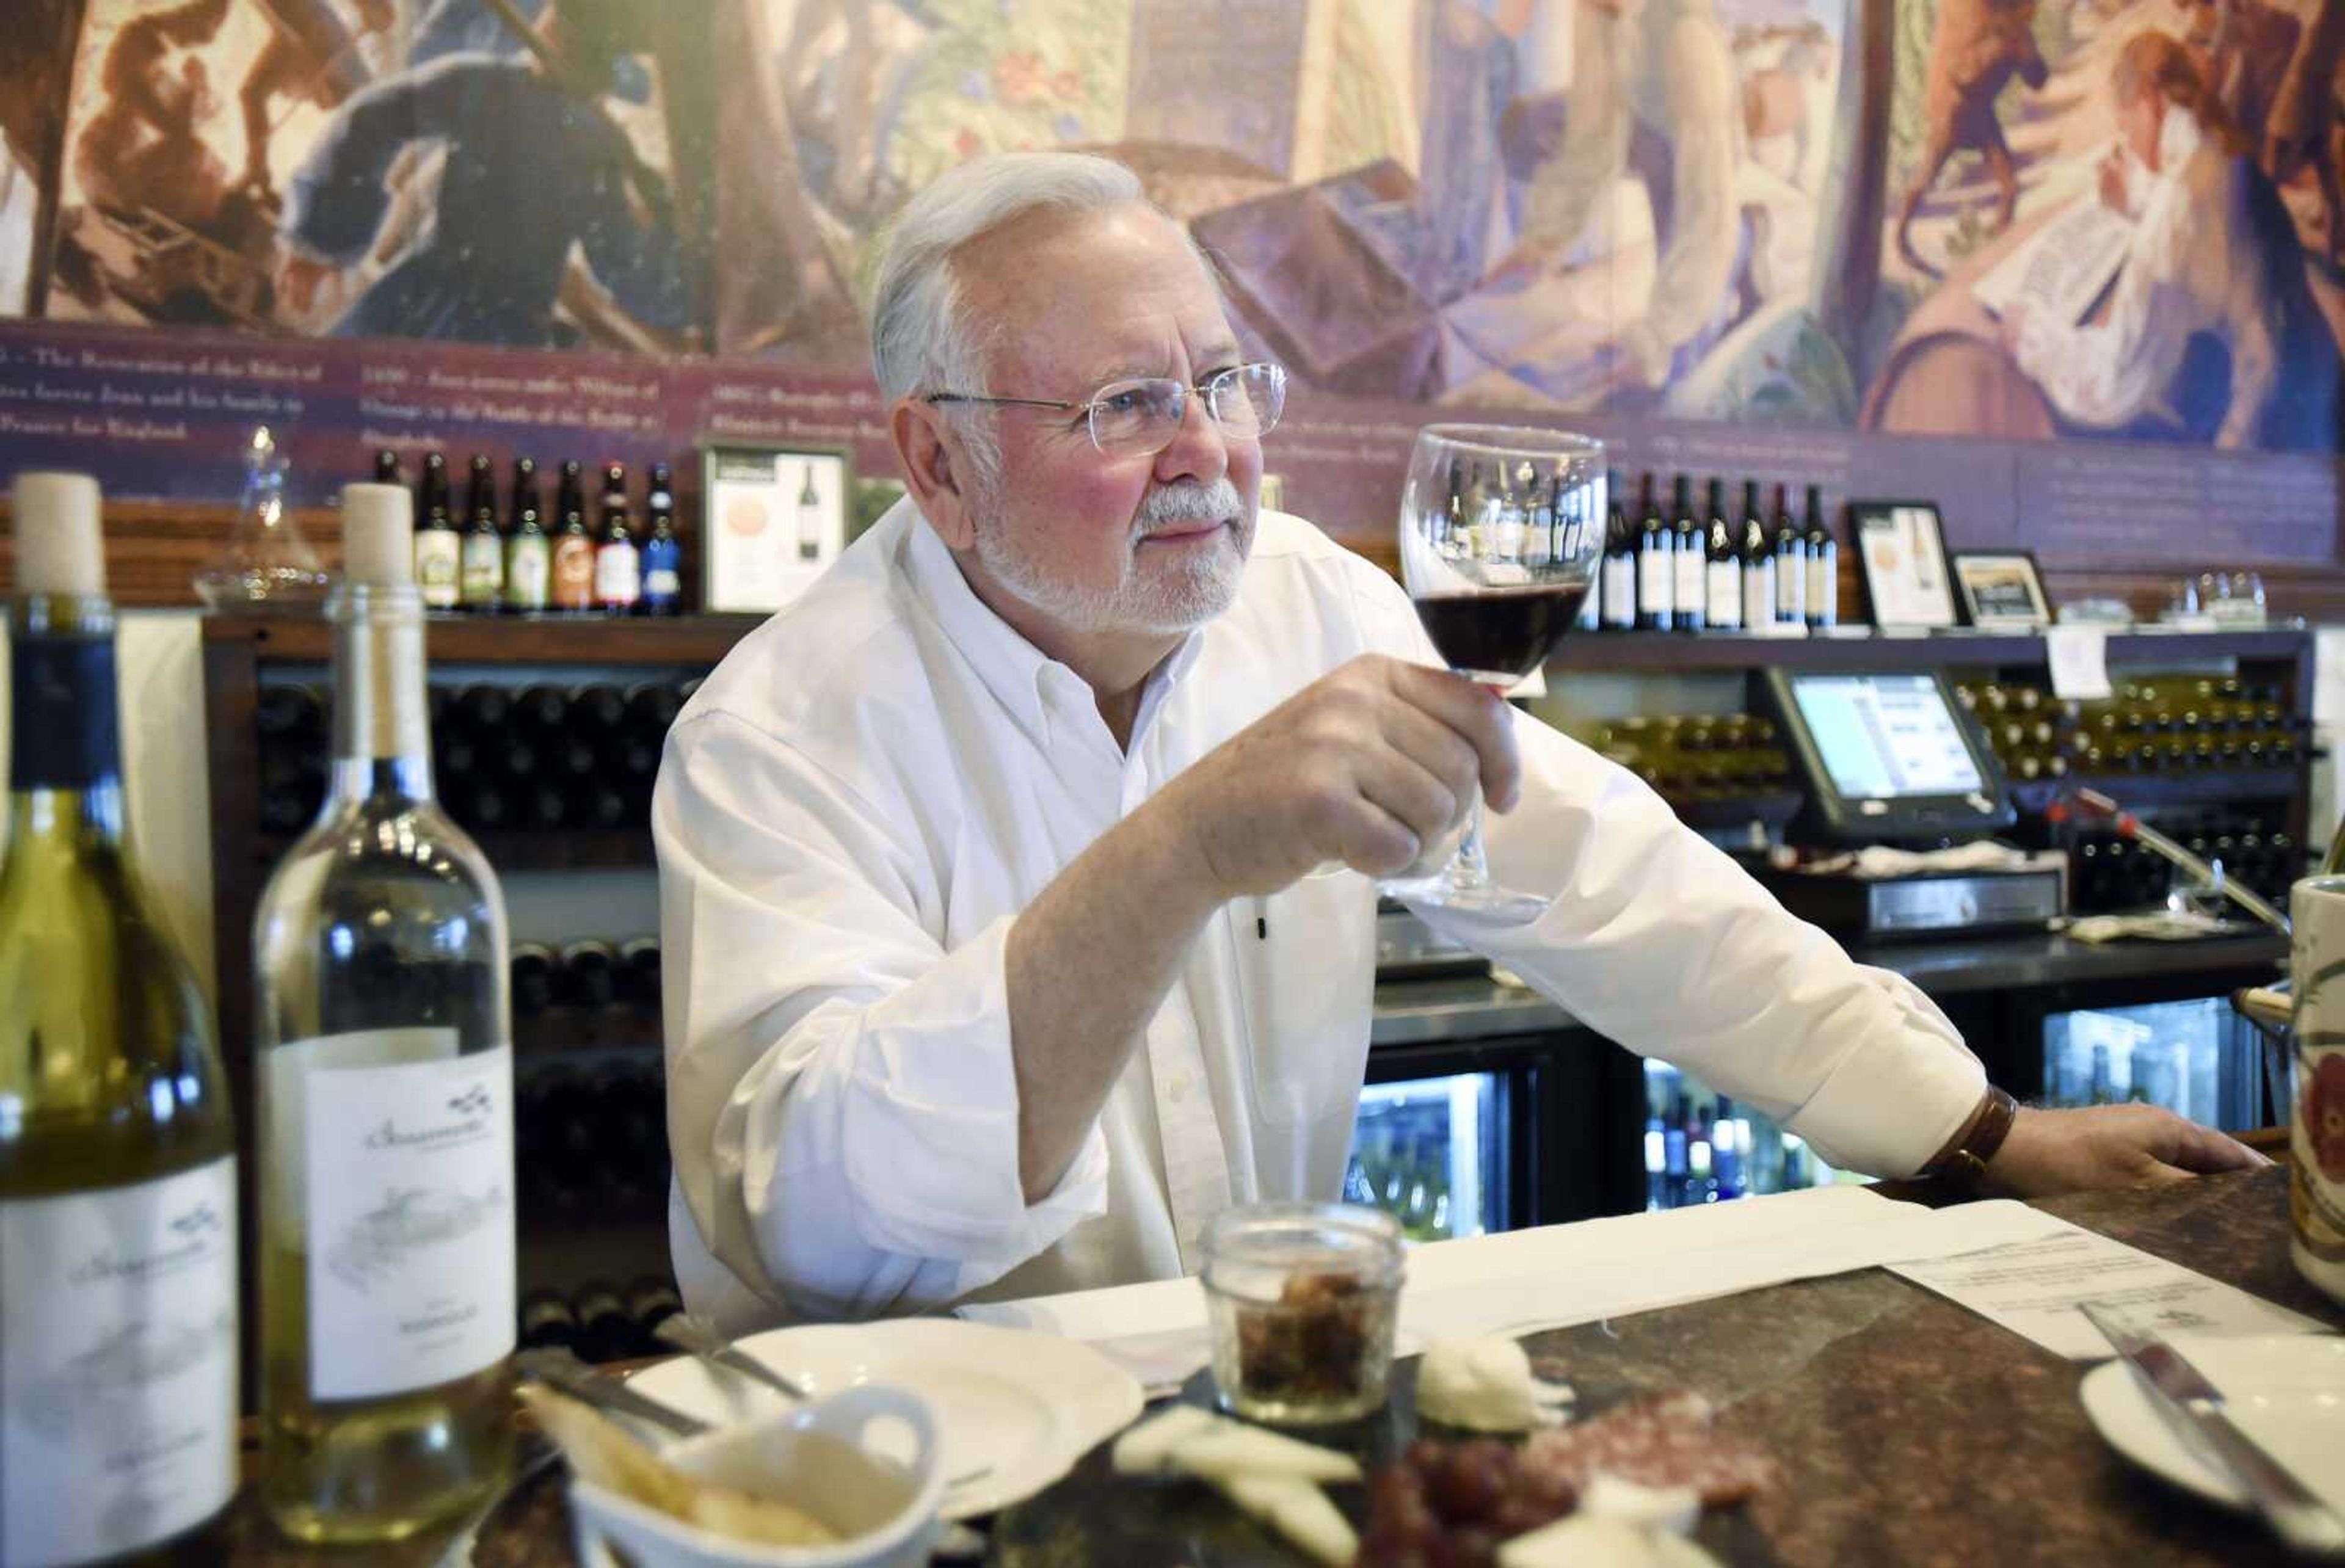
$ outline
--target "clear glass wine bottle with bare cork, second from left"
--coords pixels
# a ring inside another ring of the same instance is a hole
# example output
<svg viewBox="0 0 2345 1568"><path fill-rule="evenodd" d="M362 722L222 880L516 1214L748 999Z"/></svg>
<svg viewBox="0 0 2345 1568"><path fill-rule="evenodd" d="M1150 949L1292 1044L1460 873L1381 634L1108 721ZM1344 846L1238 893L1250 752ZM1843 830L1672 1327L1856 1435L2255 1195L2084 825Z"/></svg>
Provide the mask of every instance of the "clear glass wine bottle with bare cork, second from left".
<svg viewBox="0 0 2345 1568"><path fill-rule="evenodd" d="M511 1470L504 895L431 792L396 485L342 490L333 776L253 928L263 1500L300 1542L401 1540Z"/></svg>

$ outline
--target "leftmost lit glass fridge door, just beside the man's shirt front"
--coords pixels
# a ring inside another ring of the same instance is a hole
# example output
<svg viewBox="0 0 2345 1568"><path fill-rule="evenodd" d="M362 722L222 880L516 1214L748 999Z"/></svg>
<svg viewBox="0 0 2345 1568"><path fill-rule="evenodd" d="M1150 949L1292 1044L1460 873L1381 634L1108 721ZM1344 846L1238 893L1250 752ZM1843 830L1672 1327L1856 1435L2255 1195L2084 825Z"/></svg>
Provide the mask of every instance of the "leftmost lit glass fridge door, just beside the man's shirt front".
<svg viewBox="0 0 2345 1568"><path fill-rule="evenodd" d="M1419 1242L1508 1228L1503 1099L1501 1073L1365 1085L1344 1200Z"/></svg>

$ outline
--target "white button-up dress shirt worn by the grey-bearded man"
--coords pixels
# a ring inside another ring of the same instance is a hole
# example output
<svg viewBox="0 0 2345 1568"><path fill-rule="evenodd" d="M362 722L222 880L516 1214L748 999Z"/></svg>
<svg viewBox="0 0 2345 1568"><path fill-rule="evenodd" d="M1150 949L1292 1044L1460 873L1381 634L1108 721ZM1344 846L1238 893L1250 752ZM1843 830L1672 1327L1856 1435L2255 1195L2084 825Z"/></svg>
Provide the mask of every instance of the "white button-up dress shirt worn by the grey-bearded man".
<svg viewBox="0 0 2345 1568"><path fill-rule="evenodd" d="M1004 942L1180 769L1369 652L1437 663L1391 577L1262 513L1236 605L1149 677L1119 748L910 504L743 638L671 729L652 804L687 1305L741 1331L1170 1277L1229 1202L1334 1198L1367 1062L1365 877L1224 907L1032 1205ZM1838 1165L1911 1172L1951 1137L1984 1078L1928 998L1782 914L1623 769L1515 729L1522 804L1491 818L1491 863L1559 898L1527 928L1445 933Z"/></svg>

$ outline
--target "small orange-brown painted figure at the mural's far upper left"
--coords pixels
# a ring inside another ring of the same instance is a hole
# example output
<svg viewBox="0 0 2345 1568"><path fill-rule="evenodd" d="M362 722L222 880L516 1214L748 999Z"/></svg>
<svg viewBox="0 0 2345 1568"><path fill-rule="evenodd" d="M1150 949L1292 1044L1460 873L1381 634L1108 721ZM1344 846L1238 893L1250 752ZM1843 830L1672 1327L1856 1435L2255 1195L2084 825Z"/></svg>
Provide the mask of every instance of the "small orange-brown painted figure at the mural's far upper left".
<svg viewBox="0 0 2345 1568"><path fill-rule="evenodd" d="M192 230L220 211L227 169L197 134L211 113L211 80L192 49L225 19L227 0L188 0L115 33L98 68L106 103L75 143L73 169L94 206L155 211Z"/></svg>

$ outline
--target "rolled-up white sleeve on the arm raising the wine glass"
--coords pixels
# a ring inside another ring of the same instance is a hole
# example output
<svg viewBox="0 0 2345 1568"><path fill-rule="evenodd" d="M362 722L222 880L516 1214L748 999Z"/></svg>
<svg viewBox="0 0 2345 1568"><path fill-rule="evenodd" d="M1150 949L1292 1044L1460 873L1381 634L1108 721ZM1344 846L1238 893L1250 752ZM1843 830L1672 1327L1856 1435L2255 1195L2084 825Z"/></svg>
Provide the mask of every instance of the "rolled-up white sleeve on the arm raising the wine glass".
<svg viewBox="0 0 2345 1568"><path fill-rule="evenodd" d="M1027 1205L1013 921L945 949L908 823L715 710L671 731L652 834L671 1158L746 1287L804 1317L936 1308L1104 1212L1097 1127Z"/></svg>

